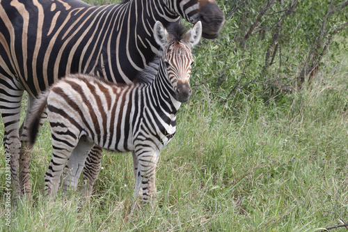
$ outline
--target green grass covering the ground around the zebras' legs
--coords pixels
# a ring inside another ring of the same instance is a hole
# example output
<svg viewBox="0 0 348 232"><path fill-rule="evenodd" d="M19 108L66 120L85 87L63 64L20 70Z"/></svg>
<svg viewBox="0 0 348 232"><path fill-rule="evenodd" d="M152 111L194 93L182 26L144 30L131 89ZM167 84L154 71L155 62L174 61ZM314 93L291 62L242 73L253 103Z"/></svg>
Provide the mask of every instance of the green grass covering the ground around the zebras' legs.
<svg viewBox="0 0 348 232"><path fill-rule="evenodd" d="M214 41L200 46L207 44ZM347 222L348 53L338 55L338 70L327 58L313 86L276 98L242 91L242 98L221 104L214 84L193 88L177 116L177 134L159 159L157 206L132 220L130 153L104 151L93 198L83 208L78 192L45 198L43 177L52 156L46 122L31 159L33 199L12 208L10 228L3 217L0 157L0 231L321 231ZM196 83L214 77L199 60L193 69ZM24 101L23 113L25 108Z"/></svg>

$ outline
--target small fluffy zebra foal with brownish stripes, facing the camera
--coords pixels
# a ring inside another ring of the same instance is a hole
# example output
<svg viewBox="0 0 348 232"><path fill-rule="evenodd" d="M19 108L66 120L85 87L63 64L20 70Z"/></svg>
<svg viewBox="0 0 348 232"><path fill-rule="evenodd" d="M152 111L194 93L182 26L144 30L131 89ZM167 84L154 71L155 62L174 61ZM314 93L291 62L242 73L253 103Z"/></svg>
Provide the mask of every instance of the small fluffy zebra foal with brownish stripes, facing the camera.
<svg viewBox="0 0 348 232"><path fill-rule="evenodd" d="M40 95L29 118L29 141L33 146L47 107L53 146L45 175L47 194L56 195L64 166L63 191L76 190L88 152L97 144L118 152L132 151L134 196L152 199L159 153L175 134L177 110L191 95L191 48L201 33L200 22L183 33L182 25L167 31L157 21L154 35L163 55L150 84L118 86L77 74L63 77Z"/></svg>

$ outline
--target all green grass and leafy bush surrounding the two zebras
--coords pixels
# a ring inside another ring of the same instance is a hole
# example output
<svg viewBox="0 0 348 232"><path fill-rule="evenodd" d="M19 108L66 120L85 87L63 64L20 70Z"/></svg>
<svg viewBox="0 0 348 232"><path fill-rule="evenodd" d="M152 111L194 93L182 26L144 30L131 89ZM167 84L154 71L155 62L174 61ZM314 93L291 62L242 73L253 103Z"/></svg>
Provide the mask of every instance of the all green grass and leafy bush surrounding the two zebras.
<svg viewBox="0 0 348 232"><path fill-rule="evenodd" d="M347 223L347 5L220 0L226 24L218 39L194 50L194 93L161 153L157 208L129 220L132 155L109 151L90 203L79 208L78 193L49 203L46 123L31 162L33 201L13 209L11 229L323 231ZM1 174L4 156L0 164ZM6 231L4 200L0 206Z"/></svg>

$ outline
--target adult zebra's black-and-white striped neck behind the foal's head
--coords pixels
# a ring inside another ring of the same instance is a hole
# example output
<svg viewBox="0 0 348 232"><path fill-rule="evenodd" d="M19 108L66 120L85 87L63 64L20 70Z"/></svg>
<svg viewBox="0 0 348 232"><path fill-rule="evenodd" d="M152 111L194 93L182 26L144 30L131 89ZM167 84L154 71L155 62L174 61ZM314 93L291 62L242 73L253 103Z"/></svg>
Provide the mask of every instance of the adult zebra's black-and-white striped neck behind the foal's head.
<svg viewBox="0 0 348 232"><path fill-rule="evenodd" d="M153 38L153 26L159 20L168 26L177 22L180 17L167 8L163 0L129 0L124 3L123 23L116 33L116 67L127 84L138 79L140 82L151 82L158 69L159 45ZM117 24L115 26L118 26ZM126 45L122 47L120 45ZM127 55L127 59L125 59ZM129 68L132 67L132 68ZM146 72L143 72L144 69ZM141 75L139 73L143 72ZM112 73L115 72L111 72ZM140 77L139 77L140 76ZM117 77L108 77L117 82Z"/></svg>

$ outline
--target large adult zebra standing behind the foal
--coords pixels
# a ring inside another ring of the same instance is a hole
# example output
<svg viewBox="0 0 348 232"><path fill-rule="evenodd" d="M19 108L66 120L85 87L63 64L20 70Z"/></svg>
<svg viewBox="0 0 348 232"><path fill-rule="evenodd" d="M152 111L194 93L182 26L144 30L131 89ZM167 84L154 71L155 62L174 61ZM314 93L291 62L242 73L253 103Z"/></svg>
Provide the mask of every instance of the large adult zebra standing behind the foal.
<svg viewBox="0 0 348 232"><path fill-rule="evenodd" d="M215 0L129 0L109 6L79 0L0 1L0 110L16 194L31 192L26 119L19 130L23 92L29 93L27 118L35 96L68 73L148 82L137 74L157 70L158 61L151 61L159 46L150 31L156 20L168 26L180 16L203 22L205 38L216 38L224 22ZM88 192L100 171L101 152L96 146L86 162Z"/></svg>

